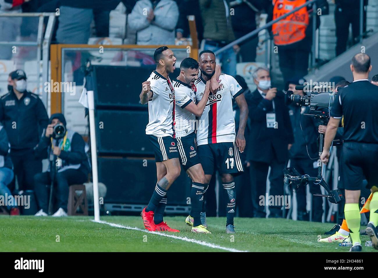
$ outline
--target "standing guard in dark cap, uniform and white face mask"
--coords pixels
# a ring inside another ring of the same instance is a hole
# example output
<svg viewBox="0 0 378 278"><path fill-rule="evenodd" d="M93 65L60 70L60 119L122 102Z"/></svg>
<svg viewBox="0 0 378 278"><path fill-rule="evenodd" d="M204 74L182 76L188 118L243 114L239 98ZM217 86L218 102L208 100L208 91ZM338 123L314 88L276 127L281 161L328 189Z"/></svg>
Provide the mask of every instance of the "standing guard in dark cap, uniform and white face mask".
<svg viewBox="0 0 378 278"><path fill-rule="evenodd" d="M15 70L9 74L9 92L0 100L0 121L11 144L11 159L19 190L33 189L33 177L42 172L42 160L34 155L48 115L38 95L26 90L26 74Z"/></svg>

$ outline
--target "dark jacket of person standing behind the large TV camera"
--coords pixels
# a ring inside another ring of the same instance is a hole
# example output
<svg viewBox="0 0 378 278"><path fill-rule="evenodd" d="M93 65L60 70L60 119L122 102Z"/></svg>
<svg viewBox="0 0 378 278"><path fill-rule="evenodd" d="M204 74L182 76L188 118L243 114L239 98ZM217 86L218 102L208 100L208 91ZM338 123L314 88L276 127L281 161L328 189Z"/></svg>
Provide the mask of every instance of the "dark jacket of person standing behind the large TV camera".
<svg viewBox="0 0 378 278"><path fill-rule="evenodd" d="M294 144L289 151L290 158L318 159L318 121L311 116L305 116L310 108L291 104L289 106L291 126L293 127ZM307 144L307 148L306 148ZM308 151L308 154L307 154ZM310 155L310 157L308 157Z"/></svg>

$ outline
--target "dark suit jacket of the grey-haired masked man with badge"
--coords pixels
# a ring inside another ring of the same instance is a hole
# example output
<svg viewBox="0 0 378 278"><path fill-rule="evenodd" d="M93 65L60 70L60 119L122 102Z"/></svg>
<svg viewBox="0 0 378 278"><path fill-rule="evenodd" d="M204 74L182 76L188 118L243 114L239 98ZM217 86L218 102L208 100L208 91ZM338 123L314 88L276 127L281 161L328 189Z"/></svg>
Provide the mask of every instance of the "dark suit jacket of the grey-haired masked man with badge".
<svg viewBox="0 0 378 278"><path fill-rule="evenodd" d="M266 127L266 113L273 112L273 101L263 98L257 89L246 94L245 99L251 122L247 159L268 163L273 149L278 162L285 162L288 144L294 143L294 137L283 93L277 92L274 98L277 128Z"/></svg>

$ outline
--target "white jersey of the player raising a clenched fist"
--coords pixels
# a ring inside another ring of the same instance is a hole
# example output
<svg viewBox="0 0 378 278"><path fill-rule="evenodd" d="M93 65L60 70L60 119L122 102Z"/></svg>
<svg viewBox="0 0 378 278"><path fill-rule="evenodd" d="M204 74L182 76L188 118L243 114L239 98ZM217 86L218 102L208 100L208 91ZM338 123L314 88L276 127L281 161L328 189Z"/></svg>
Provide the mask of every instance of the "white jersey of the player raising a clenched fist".
<svg viewBox="0 0 378 278"><path fill-rule="evenodd" d="M175 90L172 80L154 70L147 81L150 81L152 98L148 101L146 134L174 137Z"/></svg>

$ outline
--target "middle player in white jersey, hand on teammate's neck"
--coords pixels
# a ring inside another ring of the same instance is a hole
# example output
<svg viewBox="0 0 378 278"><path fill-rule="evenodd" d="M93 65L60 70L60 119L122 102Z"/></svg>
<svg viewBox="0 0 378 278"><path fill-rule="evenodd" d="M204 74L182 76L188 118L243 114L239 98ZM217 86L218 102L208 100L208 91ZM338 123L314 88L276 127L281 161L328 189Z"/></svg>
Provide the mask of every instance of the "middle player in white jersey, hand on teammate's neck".
<svg viewBox="0 0 378 278"><path fill-rule="evenodd" d="M210 92L210 82L215 92L219 88L217 77L220 75L220 68L215 73L214 78L206 82L204 97L197 102L195 93L197 89L194 82L198 79L198 62L193 58L185 58L180 64L180 75L174 80L176 99L176 124L175 133L177 148L181 158L181 165L192 179L191 189L191 214L186 220L188 225L192 225L192 231L196 233L210 233L206 226L201 223L201 210L203 203L203 193L208 184L204 183L205 176L200 164L195 144L196 116L202 115ZM188 223L189 222L189 223Z"/></svg>

